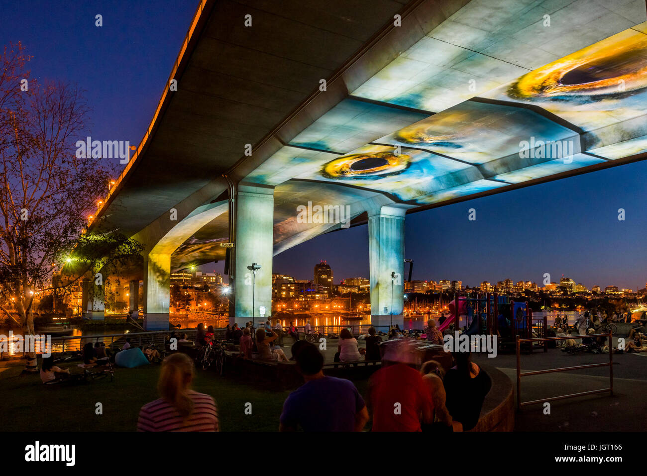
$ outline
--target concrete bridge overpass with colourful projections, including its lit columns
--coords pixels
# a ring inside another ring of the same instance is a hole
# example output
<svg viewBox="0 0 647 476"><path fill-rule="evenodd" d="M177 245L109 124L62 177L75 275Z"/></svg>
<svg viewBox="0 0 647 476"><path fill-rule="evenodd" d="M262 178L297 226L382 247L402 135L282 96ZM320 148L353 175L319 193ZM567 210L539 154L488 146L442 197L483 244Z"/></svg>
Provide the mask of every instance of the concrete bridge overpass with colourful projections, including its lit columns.
<svg viewBox="0 0 647 476"><path fill-rule="evenodd" d="M244 323L269 314L273 255L368 222L373 323L401 323L408 213L646 157L646 20L624 0L203 0L88 231L144 244L154 330L171 272L227 259Z"/></svg>

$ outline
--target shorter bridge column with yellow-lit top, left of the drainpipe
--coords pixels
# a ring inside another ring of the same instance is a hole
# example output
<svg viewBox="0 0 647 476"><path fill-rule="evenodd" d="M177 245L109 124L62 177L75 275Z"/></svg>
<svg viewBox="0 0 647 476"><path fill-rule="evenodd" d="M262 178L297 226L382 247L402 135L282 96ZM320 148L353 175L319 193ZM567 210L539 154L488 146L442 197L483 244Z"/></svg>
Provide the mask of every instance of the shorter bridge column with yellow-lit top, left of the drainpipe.
<svg viewBox="0 0 647 476"><path fill-rule="evenodd" d="M171 255L166 253L145 255L144 329L168 330L170 295Z"/></svg>

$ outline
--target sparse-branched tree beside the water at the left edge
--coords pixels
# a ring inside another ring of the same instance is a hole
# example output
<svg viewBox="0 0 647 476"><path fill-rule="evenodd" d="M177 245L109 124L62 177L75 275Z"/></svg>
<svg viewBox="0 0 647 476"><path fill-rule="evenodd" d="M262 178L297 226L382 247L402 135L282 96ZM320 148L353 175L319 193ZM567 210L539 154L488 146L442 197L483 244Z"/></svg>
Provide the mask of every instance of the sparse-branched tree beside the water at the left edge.
<svg viewBox="0 0 647 476"><path fill-rule="evenodd" d="M109 170L74 154L87 121L82 92L31 80L28 60L20 44L0 56L0 288L34 334L34 293L78 243ZM36 369L28 354L25 370Z"/></svg>

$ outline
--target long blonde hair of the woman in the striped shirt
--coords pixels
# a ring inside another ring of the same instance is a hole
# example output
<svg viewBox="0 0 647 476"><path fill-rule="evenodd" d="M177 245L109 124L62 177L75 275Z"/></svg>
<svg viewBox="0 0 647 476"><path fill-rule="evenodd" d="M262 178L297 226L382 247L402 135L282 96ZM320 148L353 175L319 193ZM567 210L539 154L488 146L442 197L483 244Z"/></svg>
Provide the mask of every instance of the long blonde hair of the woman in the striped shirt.
<svg viewBox="0 0 647 476"><path fill-rule="evenodd" d="M181 352L171 354L162 362L157 390L184 418L193 411L193 400L187 395L193 377L193 362Z"/></svg>

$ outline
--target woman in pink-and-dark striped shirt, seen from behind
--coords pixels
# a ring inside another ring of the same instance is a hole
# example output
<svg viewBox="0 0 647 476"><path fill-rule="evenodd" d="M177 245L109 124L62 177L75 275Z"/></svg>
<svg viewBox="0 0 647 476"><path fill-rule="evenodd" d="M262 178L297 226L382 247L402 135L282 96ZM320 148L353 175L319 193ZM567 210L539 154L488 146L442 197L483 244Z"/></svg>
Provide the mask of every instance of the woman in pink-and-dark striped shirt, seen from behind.
<svg viewBox="0 0 647 476"><path fill-rule="evenodd" d="M171 354L162 362L157 384L162 398L142 407L137 431L218 431L214 398L189 388L193 362L186 354Z"/></svg>

